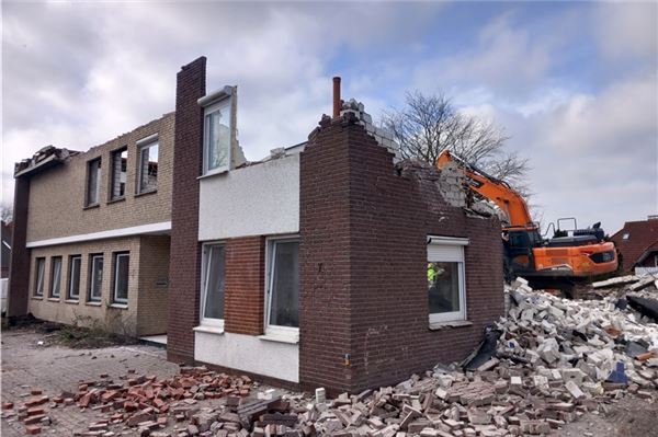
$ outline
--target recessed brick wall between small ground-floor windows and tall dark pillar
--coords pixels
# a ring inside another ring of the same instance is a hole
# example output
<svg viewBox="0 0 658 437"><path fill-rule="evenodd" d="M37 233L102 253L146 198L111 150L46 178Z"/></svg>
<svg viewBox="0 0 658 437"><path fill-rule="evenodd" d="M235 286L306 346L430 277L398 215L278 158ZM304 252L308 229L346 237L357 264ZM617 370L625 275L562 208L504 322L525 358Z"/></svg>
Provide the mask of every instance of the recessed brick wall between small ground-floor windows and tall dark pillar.
<svg viewBox="0 0 658 437"><path fill-rule="evenodd" d="M137 330L140 335L164 334L169 315L169 235L139 239L139 300Z"/></svg>

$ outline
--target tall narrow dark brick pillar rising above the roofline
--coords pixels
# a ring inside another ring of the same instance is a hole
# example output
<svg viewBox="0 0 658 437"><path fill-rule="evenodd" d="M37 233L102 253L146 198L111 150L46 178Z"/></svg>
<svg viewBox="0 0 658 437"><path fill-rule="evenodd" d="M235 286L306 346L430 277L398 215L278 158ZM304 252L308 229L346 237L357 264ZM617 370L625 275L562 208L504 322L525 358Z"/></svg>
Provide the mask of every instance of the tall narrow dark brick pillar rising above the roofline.
<svg viewBox="0 0 658 437"><path fill-rule="evenodd" d="M198 244L198 181L202 165L203 110L196 101L205 95L205 64L201 57L184 66L177 77L175 139L169 285L167 357L194 358L194 332L198 323L201 244Z"/></svg>

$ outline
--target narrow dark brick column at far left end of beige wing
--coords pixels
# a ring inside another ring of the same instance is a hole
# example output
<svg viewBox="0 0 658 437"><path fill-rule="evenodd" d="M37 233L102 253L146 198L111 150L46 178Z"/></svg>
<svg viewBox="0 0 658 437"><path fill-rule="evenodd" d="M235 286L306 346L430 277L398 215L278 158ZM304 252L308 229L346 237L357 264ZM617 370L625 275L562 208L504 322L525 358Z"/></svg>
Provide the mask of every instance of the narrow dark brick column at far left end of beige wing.
<svg viewBox="0 0 658 437"><path fill-rule="evenodd" d="M27 206L30 177L15 179L11 264L9 266L9 317L24 315L30 298L30 250L27 239Z"/></svg>

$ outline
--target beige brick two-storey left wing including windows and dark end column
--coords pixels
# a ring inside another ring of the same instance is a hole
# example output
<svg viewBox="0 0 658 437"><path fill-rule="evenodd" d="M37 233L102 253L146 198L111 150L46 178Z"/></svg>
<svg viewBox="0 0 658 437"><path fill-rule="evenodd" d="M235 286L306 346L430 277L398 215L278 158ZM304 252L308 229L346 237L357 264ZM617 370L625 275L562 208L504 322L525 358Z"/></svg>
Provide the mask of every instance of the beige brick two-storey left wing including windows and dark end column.
<svg viewBox="0 0 658 437"><path fill-rule="evenodd" d="M173 124L16 164L10 315L167 332Z"/></svg>

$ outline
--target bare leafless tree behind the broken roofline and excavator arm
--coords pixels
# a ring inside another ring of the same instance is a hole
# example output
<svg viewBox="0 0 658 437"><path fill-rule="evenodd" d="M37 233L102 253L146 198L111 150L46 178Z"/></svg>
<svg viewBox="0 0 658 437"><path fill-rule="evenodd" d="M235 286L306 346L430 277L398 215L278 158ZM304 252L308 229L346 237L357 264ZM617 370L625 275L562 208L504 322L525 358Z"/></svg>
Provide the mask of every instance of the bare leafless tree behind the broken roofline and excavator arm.
<svg viewBox="0 0 658 437"><path fill-rule="evenodd" d="M385 128L393 131L402 158L417 158L434 164L445 149L488 174L506 181L529 195L527 160L507 151L509 139L494 124L460 114L442 94L407 93L406 105L384 114Z"/></svg>

